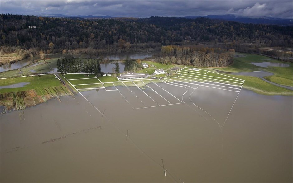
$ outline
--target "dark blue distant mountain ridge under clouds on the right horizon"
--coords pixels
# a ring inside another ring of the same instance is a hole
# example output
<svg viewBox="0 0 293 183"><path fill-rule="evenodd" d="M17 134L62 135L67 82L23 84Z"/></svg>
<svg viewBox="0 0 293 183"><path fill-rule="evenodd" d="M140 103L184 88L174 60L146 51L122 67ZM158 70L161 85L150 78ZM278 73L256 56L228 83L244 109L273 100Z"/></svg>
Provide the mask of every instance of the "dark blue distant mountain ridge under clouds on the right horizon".
<svg viewBox="0 0 293 183"><path fill-rule="evenodd" d="M199 18L199 17L227 20L227 21L236 21L236 22L241 22L241 23L272 24L272 25L281 25L281 26L292 26L293 25L292 19L272 18L272 17L249 18L249 17L236 16L233 14L207 15L207 16L184 16L183 18L195 19L195 18Z"/></svg>

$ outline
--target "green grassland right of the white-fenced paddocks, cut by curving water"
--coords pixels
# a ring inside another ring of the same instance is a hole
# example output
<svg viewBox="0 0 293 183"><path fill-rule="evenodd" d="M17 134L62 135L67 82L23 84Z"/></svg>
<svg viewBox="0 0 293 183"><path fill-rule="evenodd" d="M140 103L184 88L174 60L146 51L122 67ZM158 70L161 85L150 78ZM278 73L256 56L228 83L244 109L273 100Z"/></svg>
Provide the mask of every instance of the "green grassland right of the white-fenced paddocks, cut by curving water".
<svg viewBox="0 0 293 183"><path fill-rule="evenodd" d="M202 68L205 70L220 70L226 72L252 72L252 71L267 71L274 73L272 76L264 77L268 81L286 85L293 86L293 63L281 62L276 59L271 59L266 56L255 55L255 54L245 54L245 57L234 58L234 63L231 66L224 68ZM259 67L253 65L251 62L274 62L274 63L285 63L289 64L289 67ZM237 77L239 79L245 80L243 87L259 94L265 95L293 95L293 91L286 88L278 87L263 81L258 77L252 76L235 76L230 74L225 74L232 77Z"/></svg>

